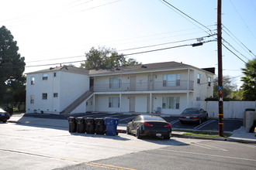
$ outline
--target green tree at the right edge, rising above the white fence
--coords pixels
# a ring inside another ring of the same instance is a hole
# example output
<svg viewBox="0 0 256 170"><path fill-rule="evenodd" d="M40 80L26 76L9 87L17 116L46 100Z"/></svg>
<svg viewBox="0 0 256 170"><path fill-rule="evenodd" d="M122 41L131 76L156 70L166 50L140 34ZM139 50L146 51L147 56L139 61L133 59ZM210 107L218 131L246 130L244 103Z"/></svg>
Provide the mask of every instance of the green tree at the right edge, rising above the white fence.
<svg viewBox="0 0 256 170"><path fill-rule="evenodd" d="M256 57L249 60L242 69L244 76L241 80L244 82L241 90L243 90L243 100L256 100Z"/></svg>

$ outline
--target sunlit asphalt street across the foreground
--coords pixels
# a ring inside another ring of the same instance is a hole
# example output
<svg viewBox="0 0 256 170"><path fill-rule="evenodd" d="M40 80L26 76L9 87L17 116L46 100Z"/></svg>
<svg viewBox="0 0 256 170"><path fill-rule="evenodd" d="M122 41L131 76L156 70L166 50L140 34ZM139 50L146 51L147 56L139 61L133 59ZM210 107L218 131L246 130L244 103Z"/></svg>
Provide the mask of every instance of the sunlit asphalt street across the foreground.
<svg viewBox="0 0 256 170"><path fill-rule="evenodd" d="M33 120L33 121L32 121ZM57 120L0 123L3 169L255 169L256 145L189 138L70 134ZM29 124L33 122L33 124ZM54 124L55 122L55 124Z"/></svg>

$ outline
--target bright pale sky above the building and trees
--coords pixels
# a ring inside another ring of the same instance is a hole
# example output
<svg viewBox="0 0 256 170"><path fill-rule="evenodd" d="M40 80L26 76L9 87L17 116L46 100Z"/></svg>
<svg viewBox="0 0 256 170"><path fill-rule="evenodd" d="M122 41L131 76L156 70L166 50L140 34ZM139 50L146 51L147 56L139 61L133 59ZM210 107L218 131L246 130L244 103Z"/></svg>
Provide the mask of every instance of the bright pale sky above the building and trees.
<svg viewBox="0 0 256 170"><path fill-rule="evenodd" d="M0 0L0 26L18 42L25 73L60 63L80 66L92 46L133 54L127 57L142 63L175 61L216 67L217 73L217 0L166 2ZM240 68L256 54L256 0L225 0L222 7L223 44L228 48L223 46L223 75L240 86ZM203 46L190 46L199 38ZM140 53L154 49L164 50Z"/></svg>

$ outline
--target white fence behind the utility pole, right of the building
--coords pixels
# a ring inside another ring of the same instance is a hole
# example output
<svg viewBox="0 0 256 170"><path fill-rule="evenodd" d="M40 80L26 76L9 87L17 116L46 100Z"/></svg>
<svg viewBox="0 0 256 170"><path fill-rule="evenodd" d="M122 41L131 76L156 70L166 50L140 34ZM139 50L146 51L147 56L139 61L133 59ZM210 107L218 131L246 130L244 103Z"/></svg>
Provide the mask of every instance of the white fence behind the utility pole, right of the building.
<svg viewBox="0 0 256 170"><path fill-rule="evenodd" d="M208 112L209 117L219 117L218 101L195 101L193 107L201 107ZM244 119L244 111L247 108L256 108L256 101L224 101L224 118Z"/></svg>

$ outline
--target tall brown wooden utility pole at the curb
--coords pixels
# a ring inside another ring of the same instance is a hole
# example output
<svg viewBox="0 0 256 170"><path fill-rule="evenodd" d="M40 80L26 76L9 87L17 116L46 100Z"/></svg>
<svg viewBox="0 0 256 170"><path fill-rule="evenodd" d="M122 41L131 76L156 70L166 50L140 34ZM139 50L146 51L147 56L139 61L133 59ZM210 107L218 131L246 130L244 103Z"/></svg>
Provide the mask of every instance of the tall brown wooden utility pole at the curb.
<svg viewBox="0 0 256 170"><path fill-rule="evenodd" d="M218 87L219 87L219 135L224 136L223 124L223 73L222 73L222 36L221 36L221 0L217 6L217 42L218 42Z"/></svg>

